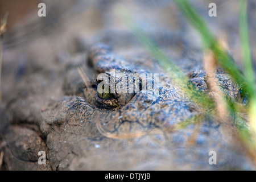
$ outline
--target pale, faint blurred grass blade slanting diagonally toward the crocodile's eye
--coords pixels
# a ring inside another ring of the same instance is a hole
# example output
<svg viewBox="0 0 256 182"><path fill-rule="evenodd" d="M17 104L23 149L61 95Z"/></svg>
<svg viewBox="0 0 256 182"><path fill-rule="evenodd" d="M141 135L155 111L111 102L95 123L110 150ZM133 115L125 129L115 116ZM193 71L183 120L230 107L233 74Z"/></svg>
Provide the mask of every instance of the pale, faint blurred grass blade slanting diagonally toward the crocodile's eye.
<svg viewBox="0 0 256 182"><path fill-rule="evenodd" d="M175 63L170 60L170 58L151 40L141 27L133 20L131 15L127 12L125 7L119 5L115 9L118 16L127 24L136 38L143 44L147 51L155 57L160 66L165 69L168 73L168 76L172 78L172 81L175 84L179 85L185 94L191 98L196 104L199 104L202 108L205 108L205 111L209 111L210 107L214 107L214 102L204 93L198 92L193 88L188 89L188 77L180 70Z"/></svg>

